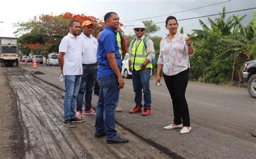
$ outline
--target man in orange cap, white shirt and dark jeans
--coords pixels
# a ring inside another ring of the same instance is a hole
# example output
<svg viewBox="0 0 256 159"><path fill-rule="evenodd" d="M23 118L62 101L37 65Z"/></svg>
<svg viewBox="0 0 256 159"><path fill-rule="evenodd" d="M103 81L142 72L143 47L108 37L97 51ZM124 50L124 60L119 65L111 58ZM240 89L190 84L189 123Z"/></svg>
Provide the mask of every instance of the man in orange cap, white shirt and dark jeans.
<svg viewBox="0 0 256 159"><path fill-rule="evenodd" d="M83 113L83 99L85 98L85 115L95 115L92 110L92 91L95 87L97 78L97 47L98 41L92 37L93 24L89 20L85 20L82 24L82 34L79 35L83 44L83 76L77 96L77 118L81 118Z"/></svg>

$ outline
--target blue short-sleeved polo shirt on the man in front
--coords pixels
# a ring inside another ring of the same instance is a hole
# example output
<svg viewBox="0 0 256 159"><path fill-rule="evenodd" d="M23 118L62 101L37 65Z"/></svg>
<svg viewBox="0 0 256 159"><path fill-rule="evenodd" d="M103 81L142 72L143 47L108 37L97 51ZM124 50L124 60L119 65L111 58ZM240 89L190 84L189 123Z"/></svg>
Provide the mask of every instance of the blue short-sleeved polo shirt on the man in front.
<svg viewBox="0 0 256 159"><path fill-rule="evenodd" d="M114 71L110 68L109 61L107 60L107 53L114 52L118 68L121 71L121 55L119 53L119 46L117 44L116 32L109 26L105 26L102 34L100 34L97 50L98 74L97 77L106 77L115 75Z"/></svg>

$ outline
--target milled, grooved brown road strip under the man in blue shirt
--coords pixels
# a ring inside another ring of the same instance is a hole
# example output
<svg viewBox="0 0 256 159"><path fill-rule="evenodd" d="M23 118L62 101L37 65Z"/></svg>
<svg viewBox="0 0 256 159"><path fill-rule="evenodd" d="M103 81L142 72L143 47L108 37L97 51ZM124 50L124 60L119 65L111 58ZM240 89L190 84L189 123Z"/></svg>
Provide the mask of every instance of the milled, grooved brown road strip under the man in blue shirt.
<svg viewBox="0 0 256 159"><path fill-rule="evenodd" d="M9 82L17 93L28 148L26 158L170 158L117 126L127 144L94 138L95 116L76 128L63 127L64 92L19 68L10 68Z"/></svg>

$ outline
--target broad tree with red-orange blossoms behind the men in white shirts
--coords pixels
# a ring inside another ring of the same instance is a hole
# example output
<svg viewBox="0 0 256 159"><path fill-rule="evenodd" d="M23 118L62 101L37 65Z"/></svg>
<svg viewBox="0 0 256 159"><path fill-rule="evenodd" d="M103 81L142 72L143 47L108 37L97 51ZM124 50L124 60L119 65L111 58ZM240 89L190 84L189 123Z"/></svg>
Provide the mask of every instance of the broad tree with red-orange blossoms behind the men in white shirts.
<svg viewBox="0 0 256 159"><path fill-rule="evenodd" d="M84 14L75 15L70 12L65 12L58 16L41 15L39 18L34 17L32 20L15 25L18 27L15 34L22 35L19 38L19 42L22 44L21 50L28 50L27 48L30 47L30 52L39 48L48 53L58 52L61 39L69 32L68 25L70 20L77 20L80 24L85 20L90 20L95 24L92 31L94 37L97 37L100 30L105 27L104 21L93 16L85 16ZM38 39L40 39L40 41ZM37 46L37 48L34 49L32 46Z"/></svg>

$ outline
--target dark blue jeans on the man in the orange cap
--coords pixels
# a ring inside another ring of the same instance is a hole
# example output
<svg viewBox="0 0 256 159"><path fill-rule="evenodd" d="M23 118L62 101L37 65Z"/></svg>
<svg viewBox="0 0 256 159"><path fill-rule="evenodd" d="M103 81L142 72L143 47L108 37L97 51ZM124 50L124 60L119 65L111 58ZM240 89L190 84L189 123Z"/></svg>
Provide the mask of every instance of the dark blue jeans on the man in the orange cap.
<svg viewBox="0 0 256 159"><path fill-rule="evenodd" d="M77 95L77 111L83 109L83 100L85 98L85 110L89 111L92 107L92 91L95 87L97 78L97 66L90 66L83 64L84 75Z"/></svg>

